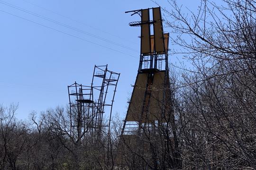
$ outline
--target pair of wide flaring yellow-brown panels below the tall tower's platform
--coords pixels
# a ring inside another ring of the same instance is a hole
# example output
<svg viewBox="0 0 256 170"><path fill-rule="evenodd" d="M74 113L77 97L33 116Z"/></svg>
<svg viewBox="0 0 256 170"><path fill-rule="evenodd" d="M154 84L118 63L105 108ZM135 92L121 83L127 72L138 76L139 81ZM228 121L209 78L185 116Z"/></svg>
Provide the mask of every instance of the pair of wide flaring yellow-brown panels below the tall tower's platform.
<svg viewBox="0 0 256 170"><path fill-rule="evenodd" d="M165 91L165 72L156 72L154 74L153 84L148 88L151 89L151 96L149 102L146 102L148 109L144 108L143 102L146 93L147 73L139 73L137 75L136 85L128 106L126 121L139 121L141 123L153 123L155 120L162 120L162 110L165 103L163 103ZM168 94L167 94L168 95ZM166 100L165 100L166 102ZM148 110L148 111L146 111ZM143 112L142 112L143 111Z"/></svg>

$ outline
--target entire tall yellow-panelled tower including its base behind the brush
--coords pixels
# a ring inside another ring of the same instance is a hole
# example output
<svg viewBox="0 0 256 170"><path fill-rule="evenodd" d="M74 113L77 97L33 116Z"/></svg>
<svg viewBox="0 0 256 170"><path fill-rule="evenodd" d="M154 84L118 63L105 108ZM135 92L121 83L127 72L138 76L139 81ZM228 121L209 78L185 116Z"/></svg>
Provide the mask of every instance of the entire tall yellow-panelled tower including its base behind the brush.
<svg viewBox="0 0 256 170"><path fill-rule="evenodd" d="M128 162L128 159L143 162L138 159L151 152L150 143L145 141L154 138L152 134L158 133L156 128L168 121L172 110L168 70L169 33L163 31L161 9L147 8L126 13L141 17L141 21L129 23L129 26L141 27L141 46L137 78L118 146L116 161L119 164ZM127 153L139 155L138 159ZM145 163L140 167L146 168ZM129 168L134 167L130 165Z"/></svg>

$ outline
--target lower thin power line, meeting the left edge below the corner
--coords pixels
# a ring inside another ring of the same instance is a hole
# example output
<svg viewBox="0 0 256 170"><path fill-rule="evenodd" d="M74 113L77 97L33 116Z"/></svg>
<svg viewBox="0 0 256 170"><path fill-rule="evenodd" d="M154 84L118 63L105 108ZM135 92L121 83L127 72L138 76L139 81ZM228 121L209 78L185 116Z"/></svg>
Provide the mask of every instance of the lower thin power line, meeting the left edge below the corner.
<svg viewBox="0 0 256 170"><path fill-rule="evenodd" d="M0 11L1 11L1 12L4 12L4 13L6 13L6 14L12 15L12 16L14 16L14 17L18 17L18 18L24 19L24 20L26 20L26 21L32 22L32 23L37 24L37 25L39 25L39 26L44 26L44 27L46 27L46 28L48 28L48 29L55 30L55 31L57 31L57 32L59 32L59 33L66 34L66 35L69 35L69 36L72 36L72 37L78 38L78 39L80 39L80 40L82 40L82 41L90 42L90 43L92 43L92 44L95 44L95 45L98 45L98 46L101 46L101 47L104 47L104 48L110 49L110 50L112 50L112 51L116 51L116 52L119 52L119 53L122 53L122 54L125 54L125 55L128 55L128 56L131 56L131 57L133 57L133 58L137 58L137 57L135 57L135 56L133 56L133 55L130 55L130 54L124 53L124 52L122 52L122 51L118 51L118 50L112 49L112 48L110 48L110 47L107 47L107 46L104 46L104 45L98 44L98 43L96 43L96 42L91 42L91 41L89 41L89 40L83 39L83 38L81 38L81 37L78 37L78 36L75 36L75 35L72 35L72 34L69 34L69 33L65 33L65 32L63 32L63 31L57 30L57 29L52 28L52 27L49 27L49 26L45 26L45 25L43 25L43 24L37 23L37 22L32 21L32 20L29 20L29 19L27 19L27 18L19 17L19 16L15 15L15 14L11 14L11 13L6 12L6 11L3 11L3 10L0 10Z"/></svg>

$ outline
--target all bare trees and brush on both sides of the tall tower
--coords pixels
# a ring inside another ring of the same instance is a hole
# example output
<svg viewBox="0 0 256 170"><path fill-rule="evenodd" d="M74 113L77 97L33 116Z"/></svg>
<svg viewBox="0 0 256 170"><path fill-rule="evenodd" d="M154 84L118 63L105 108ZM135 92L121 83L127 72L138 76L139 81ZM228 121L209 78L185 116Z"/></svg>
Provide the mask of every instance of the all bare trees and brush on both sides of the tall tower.
<svg viewBox="0 0 256 170"><path fill-rule="evenodd" d="M193 67L171 66L173 111L165 124L142 131L146 153L127 144L119 164L119 118L112 120L110 137L77 141L64 108L37 119L32 113L22 122L11 105L0 107L0 169L256 169L256 2L223 0L218 6L202 0L197 13L189 14L169 2L165 24L181 47L170 52L182 52Z"/></svg>

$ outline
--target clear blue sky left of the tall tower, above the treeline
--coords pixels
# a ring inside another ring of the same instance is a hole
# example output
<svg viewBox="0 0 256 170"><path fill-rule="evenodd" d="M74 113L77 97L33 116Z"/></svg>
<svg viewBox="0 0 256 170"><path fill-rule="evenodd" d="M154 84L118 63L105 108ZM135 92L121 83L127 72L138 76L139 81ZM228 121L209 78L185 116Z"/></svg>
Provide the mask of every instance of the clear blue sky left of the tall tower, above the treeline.
<svg viewBox="0 0 256 170"><path fill-rule="evenodd" d="M108 64L121 73L113 112L124 117L140 49L139 27L128 26L138 17L125 11L150 7L156 7L150 0L0 0L0 104L19 103L18 119L26 119L32 110L65 106L67 85L90 84L94 65Z"/></svg>

